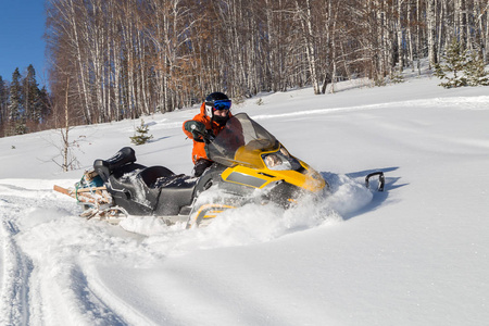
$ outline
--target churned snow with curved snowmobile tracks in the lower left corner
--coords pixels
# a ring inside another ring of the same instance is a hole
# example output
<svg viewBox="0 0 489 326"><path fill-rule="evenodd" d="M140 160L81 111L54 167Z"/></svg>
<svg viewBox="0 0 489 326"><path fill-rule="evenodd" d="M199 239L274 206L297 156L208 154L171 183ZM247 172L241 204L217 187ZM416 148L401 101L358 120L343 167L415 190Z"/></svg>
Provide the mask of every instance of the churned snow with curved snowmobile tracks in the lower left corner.
<svg viewBox="0 0 489 326"><path fill-rule="evenodd" d="M57 230L43 224L70 220L74 214L67 201L58 200L51 190L5 184L0 185L0 325L66 325L70 321L77 325L127 325L98 298L76 258L51 260L49 250L33 251L42 241L29 244L22 238L32 229L43 233L43 239L52 238ZM57 244L55 251L63 250L63 243Z"/></svg>

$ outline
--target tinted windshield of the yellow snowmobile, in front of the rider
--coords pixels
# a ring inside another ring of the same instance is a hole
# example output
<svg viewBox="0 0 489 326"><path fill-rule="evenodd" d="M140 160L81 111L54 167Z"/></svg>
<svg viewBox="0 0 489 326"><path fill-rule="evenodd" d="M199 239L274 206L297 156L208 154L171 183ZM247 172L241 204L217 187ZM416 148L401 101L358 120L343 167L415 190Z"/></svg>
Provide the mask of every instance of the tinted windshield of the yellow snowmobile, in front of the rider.
<svg viewBox="0 0 489 326"><path fill-rule="evenodd" d="M277 139L246 113L230 117L205 150L209 159L226 166L236 164L254 165L253 162L236 160L238 149L247 152L273 151L279 148Z"/></svg>

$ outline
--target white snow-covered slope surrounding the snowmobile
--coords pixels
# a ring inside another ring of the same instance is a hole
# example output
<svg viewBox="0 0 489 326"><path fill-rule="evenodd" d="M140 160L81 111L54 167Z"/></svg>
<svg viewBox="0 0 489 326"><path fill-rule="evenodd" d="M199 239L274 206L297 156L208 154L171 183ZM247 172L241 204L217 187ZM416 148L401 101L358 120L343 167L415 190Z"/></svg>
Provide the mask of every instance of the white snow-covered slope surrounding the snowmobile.
<svg viewBox="0 0 489 326"><path fill-rule="evenodd" d="M330 183L293 210L244 206L204 229L84 221L72 186L140 121L0 139L1 325L488 325L489 88L438 79L264 95L234 106ZM146 117L138 162L190 173L181 123ZM386 191L363 177L386 173Z"/></svg>

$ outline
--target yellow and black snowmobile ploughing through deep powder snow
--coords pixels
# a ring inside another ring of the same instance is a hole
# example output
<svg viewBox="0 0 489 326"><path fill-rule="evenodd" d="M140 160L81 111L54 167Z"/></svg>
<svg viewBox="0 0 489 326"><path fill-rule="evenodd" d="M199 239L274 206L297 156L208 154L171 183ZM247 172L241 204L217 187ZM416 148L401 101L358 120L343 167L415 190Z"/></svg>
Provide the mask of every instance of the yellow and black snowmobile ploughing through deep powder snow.
<svg viewBox="0 0 489 326"><path fill-rule="evenodd" d="M214 163L200 177L138 164L135 151L125 147L111 159L96 160L74 189L54 190L76 198L87 218L116 224L128 215L153 215L189 228L206 226L224 211L247 203L288 208L306 193L328 189L319 173L246 113L230 117L216 137L201 136Z"/></svg>

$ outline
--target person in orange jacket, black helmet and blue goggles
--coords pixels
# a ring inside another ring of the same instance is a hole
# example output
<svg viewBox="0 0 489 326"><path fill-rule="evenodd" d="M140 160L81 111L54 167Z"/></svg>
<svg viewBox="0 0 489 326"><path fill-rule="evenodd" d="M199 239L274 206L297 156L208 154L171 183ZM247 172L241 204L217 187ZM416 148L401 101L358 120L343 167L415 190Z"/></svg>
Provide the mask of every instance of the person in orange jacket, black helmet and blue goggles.
<svg viewBox="0 0 489 326"><path fill-rule="evenodd" d="M205 168L213 163L205 153L205 143L201 134L217 136L233 116L229 112L230 106L231 101L225 93L212 92L200 106L200 113L184 123L185 135L193 139L193 175L197 177L201 176Z"/></svg>

